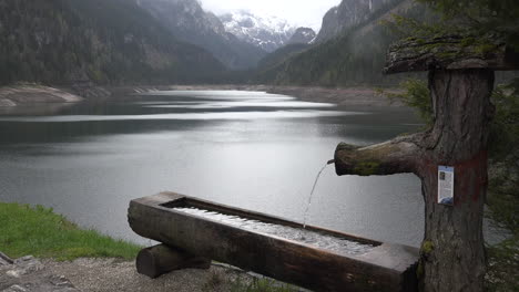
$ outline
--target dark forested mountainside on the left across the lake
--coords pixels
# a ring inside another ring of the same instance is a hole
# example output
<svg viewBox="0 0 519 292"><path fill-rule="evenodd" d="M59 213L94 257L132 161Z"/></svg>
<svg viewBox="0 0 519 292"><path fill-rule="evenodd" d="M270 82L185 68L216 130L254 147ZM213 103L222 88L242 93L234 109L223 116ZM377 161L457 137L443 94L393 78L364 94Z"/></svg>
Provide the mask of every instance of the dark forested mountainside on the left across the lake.
<svg viewBox="0 0 519 292"><path fill-rule="evenodd" d="M223 65L133 1L0 0L0 83L207 81Z"/></svg>

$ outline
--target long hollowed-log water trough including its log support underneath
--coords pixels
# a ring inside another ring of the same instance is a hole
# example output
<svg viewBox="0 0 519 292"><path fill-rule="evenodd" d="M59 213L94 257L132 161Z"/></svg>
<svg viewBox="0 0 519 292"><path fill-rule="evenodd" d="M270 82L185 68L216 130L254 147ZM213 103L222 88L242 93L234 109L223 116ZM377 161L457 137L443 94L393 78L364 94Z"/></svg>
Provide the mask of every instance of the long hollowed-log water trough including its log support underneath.
<svg viewBox="0 0 519 292"><path fill-rule="evenodd" d="M207 210L295 232L303 230L297 222L173 192L135 199L128 213L131 228L163 243L140 252L139 272L154 278L176 269L206 269L210 260L216 260L314 291L416 291L416 248L312 226L303 230L363 247L360 251L343 252L185 209Z"/></svg>

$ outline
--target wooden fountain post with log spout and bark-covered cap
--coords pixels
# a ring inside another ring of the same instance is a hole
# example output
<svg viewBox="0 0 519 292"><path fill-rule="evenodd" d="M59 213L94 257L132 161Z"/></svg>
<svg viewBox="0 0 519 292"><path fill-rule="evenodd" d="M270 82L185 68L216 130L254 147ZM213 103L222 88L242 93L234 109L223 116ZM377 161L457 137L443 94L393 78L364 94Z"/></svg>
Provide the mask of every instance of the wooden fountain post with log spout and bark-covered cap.
<svg viewBox="0 0 519 292"><path fill-rule="evenodd" d="M493 71L519 67L518 55L505 43L491 45L491 51L482 52L481 45L466 45L458 36L393 45L385 73L429 72L434 126L367 147L339 144L335 152L337 175L413 173L421 179L425 237L417 277L423 291L484 289L482 216ZM438 204L439 166L455 169L452 206Z"/></svg>

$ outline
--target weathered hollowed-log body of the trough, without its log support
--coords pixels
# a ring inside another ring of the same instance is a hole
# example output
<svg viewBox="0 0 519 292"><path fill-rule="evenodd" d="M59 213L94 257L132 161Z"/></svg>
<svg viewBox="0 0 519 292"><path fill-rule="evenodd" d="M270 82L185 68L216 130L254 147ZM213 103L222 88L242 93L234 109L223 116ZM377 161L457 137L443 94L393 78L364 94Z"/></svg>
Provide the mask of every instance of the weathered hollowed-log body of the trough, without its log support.
<svg viewBox="0 0 519 292"><path fill-rule="evenodd" d="M315 291L415 291L416 248L373 243L372 251L360 255L340 255L301 242L240 229L182 213L169 202L185 196L163 192L132 200L129 209L131 228L140 236L161 241L192 254L226 262L274 279ZM200 200L196 200L200 201ZM202 205L208 202L201 201ZM202 207L204 207L202 206ZM302 225L274 217L246 212L221 205L206 209L262 221ZM360 240L316 227L307 229Z"/></svg>

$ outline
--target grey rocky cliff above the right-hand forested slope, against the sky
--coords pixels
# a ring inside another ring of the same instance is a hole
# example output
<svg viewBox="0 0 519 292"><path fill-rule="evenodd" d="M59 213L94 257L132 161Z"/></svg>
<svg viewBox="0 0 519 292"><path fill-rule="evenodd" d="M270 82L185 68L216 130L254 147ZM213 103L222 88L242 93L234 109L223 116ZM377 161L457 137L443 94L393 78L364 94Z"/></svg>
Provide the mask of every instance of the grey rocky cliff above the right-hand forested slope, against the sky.
<svg viewBox="0 0 519 292"><path fill-rule="evenodd" d="M368 20L379 9L398 1L401 0L343 0L326 12L316 42L328 41L342 31Z"/></svg>

